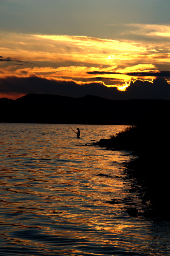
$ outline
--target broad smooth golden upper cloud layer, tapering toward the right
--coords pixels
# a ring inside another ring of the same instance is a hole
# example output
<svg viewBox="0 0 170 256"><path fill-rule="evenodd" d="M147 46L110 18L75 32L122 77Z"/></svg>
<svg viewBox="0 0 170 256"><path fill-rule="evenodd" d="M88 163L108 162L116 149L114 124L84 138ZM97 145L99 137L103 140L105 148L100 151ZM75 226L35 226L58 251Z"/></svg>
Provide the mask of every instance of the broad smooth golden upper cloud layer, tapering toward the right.
<svg viewBox="0 0 170 256"><path fill-rule="evenodd" d="M0 55L21 61L80 62L117 65L120 60L141 59L145 45L111 39L68 35L0 33Z"/></svg>

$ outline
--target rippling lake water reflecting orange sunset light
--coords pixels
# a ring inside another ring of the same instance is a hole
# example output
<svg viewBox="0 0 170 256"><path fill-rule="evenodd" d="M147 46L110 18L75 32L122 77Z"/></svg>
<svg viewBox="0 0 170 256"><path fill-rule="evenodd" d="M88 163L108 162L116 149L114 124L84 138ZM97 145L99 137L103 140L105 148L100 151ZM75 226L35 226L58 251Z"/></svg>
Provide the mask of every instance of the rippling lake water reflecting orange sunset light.
<svg viewBox="0 0 170 256"><path fill-rule="evenodd" d="M92 146L126 126L71 127L0 124L0 255L170 255L169 223L125 212L131 152Z"/></svg>

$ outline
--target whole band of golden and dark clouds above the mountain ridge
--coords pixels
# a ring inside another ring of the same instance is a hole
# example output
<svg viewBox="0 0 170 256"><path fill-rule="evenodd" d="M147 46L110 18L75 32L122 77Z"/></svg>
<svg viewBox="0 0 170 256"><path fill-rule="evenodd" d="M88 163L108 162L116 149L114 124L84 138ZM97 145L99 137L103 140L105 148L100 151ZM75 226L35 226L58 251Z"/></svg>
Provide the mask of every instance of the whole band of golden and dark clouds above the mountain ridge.
<svg viewBox="0 0 170 256"><path fill-rule="evenodd" d="M131 35L139 30L148 41L1 32L0 97L43 93L170 99L168 26L126 26Z"/></svg>

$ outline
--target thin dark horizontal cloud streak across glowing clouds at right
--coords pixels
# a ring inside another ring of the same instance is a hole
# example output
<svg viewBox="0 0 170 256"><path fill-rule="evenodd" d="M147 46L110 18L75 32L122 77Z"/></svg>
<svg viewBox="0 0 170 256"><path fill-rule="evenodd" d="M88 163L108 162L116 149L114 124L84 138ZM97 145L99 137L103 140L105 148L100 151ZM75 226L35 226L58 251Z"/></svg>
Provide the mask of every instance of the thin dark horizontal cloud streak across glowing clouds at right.
<svg viewBox="0 0 170 256"><path fill-rule="evenodd" d="M130 76L163 76L163 77L170 77L170 71L160 71L160 72L128 72L128 73L120 73L120 72L105 72L105 71L91 71L87 72L87 74L123 74L123 75L130 75Z"/></svg>

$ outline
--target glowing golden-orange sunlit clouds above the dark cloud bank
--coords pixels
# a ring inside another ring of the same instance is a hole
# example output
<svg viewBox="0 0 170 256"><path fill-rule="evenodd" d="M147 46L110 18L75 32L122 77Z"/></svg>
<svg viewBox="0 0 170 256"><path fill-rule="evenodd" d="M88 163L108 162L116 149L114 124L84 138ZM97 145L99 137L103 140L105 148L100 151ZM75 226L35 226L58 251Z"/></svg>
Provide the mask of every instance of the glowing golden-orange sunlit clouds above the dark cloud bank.
<svg viewBox="0 0 170 256"><path fill-rule="evenodd" d="M131 33L141 32L145 36L153 36L153 34L160 36L161 33L166 33L167 37L170 31L168 26L147 24L128 24L128 26L137 28L131 30ZM0 32L0 36L0 78L35 76L47 80L74 81L79 85L96 81L107 87L126 90L131 81L138 79L137 76L129 76L126 73L158 72L158 66L164 67L170 62L168 45L163 42L150 45L148 42L136 43L86 36L12 32ZM93 71L117 72L117 74L106 73L100 78L89 74ZM142 81L152 82L153 79L155 77L152 79L149 76L140 77Z"/></svg>

